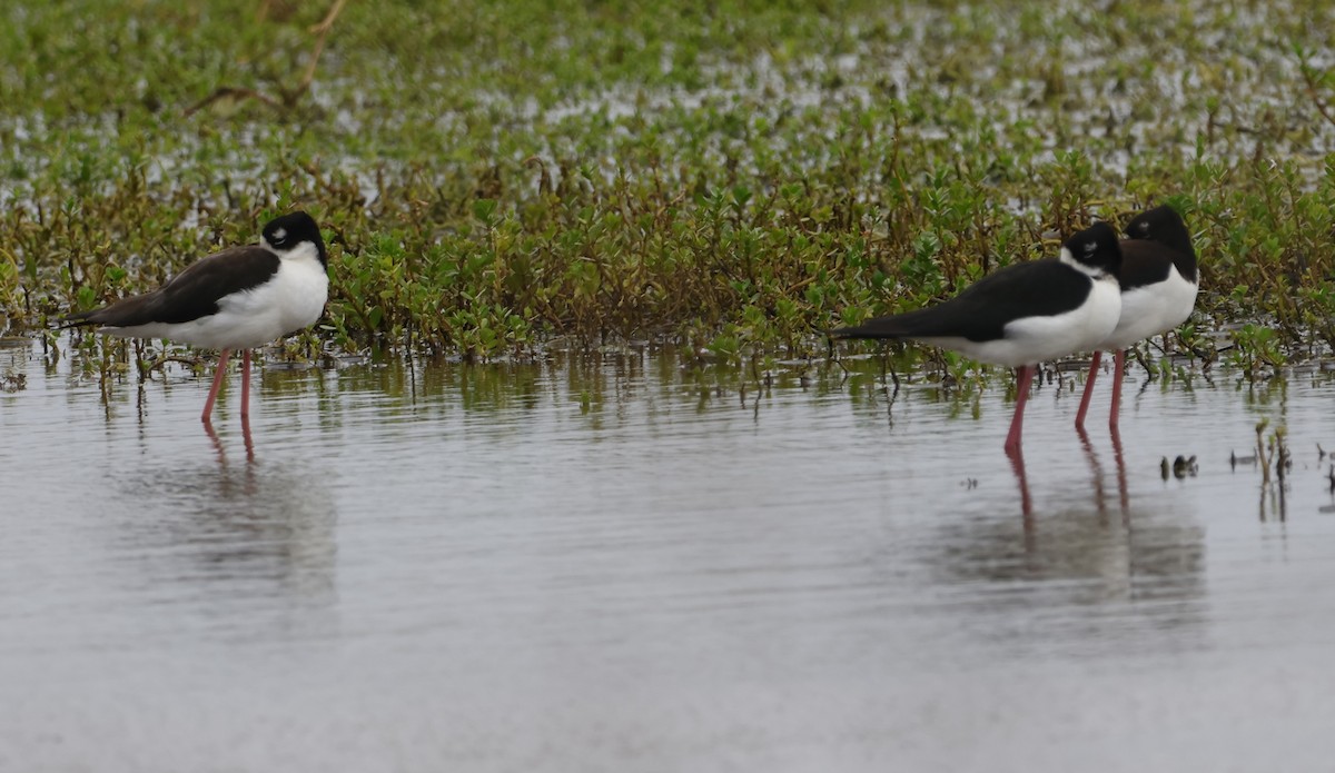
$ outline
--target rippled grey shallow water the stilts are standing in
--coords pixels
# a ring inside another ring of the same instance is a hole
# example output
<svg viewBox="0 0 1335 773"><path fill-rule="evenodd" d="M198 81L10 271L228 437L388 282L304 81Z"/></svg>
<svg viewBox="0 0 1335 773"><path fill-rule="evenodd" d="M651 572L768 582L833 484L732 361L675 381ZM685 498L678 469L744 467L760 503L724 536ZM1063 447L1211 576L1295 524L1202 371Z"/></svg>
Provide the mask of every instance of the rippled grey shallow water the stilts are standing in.
<svg viewBox="0 0 1335 773"><path fill-rule="evenodd" d="M1324 769L1335 384L1132 376L1021 489L1003 379L270 367L248 461L207 376L0 348L0 770Z"/></svg>

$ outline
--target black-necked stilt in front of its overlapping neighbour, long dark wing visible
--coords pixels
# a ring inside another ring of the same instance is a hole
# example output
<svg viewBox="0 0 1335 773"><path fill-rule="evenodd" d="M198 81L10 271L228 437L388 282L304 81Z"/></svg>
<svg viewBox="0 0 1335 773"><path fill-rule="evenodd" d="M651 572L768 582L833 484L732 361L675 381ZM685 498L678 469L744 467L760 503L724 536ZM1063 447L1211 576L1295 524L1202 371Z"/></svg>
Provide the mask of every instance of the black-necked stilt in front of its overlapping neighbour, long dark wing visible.
<svg viewBox="0 0 1335 773"><path fill-rule="evenodd" d="M1067 239L1060 258L1008 266L926 308L832 330L833 338L909 338L1019 368L1005 449L1020 447L1035 364L1084 351L1117 326L1121 250L1107 223Z"/></svg>

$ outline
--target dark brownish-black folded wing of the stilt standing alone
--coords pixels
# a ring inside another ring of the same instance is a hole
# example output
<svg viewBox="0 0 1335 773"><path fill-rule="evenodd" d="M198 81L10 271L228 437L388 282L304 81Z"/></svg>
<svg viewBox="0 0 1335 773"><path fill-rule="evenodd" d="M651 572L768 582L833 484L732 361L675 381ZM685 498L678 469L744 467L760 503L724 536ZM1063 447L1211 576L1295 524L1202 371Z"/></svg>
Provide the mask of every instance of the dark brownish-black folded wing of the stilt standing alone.
<svg viewBox="0 0 1335 773"><path fill-rule="evenodd" d="M279 263L278 255L258 244L230 247L192 263L152 292L72 314L65 323L134 327L154 322L191 322L218 314L218 302L224 295L264 283L278 271Z"/></svg>

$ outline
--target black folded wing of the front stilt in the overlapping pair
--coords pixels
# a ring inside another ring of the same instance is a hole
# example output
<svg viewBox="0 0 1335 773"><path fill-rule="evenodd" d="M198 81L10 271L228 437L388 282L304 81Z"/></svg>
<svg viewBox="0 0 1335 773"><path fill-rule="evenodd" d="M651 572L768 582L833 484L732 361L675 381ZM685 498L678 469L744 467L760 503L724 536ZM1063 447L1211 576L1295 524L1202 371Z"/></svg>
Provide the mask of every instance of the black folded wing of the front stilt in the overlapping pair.
<svg viewBox="0 0 1335 773"><path fill-rule="evenodd" d="M1049 316L1084 303L1093 287L1083 272L1055 258L1009 266L984 276L951 300L856 327L832 330L834 338L1004 338L1005 326L1025 316Z"/></svg>

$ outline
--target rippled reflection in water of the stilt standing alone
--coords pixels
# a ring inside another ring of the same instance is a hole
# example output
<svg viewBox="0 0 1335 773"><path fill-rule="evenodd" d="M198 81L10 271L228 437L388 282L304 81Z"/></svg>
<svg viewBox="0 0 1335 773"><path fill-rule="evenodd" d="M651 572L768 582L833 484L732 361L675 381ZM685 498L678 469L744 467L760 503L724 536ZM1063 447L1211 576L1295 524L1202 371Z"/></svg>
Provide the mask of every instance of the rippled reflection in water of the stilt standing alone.
<svg viewBox="0 0 1335 773"><path fill-rule="evenodd" d="M244 423L246 461L231 462L228 438L206 427L216 459L113 483L132 489L117 499L138 502L119 519L117 547L159 595L206 605L192 610L206 614L244 609L234 631L319 635L336 601L338 514L327 485L300 463L256 461Z"/></svg>

